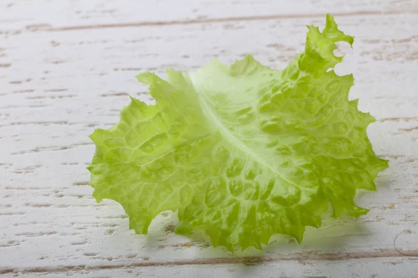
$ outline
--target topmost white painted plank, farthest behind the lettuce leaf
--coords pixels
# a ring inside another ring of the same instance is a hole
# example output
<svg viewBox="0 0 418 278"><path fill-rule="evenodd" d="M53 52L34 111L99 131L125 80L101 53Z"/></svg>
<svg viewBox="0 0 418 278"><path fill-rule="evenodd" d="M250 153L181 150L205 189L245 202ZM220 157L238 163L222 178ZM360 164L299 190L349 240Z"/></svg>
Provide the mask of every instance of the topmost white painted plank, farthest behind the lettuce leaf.
<svg viewBox="0 0 418 278"><path fill-rule="evenodd" d="M0 30L100 28L214 19L418 13L415 0L19 0L0 3ZM104 26L102 26L104 24Z"/></svg>

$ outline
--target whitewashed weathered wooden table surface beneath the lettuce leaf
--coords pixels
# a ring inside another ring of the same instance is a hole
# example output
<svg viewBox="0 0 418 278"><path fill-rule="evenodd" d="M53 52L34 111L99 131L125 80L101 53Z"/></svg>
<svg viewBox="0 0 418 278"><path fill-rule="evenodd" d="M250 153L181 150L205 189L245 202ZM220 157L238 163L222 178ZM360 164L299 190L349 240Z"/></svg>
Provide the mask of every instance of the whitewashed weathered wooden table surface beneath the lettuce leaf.
<svg viewBox="0 0 418 278"><path fill-rule="evenodd" d="M358 195L367 215L231 254L173 234L173 213L141 236L121 206L95 203L88 135L127 95L150 101L135 74L248 53L281 69L325 13L356 36L336 72L354 73L350 98L378 119L369 137L390 160L378 192ZM0 276L418 277L417 61L416 0L1 1Z"/></svg>

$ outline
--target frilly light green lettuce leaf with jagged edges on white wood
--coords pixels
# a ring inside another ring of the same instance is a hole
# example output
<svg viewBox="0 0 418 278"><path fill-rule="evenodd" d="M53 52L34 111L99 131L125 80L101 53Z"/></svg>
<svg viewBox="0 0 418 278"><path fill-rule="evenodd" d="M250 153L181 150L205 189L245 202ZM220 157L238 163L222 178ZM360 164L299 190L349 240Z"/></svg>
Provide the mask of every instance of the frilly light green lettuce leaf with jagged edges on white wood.
<svg viewBox="0 0 418 278"><path fill-rule="evenodd" d="M261 248L273 234L302 240L305 227L359 217L356 190L375 190L388 167L366 135L375 119L348 101L353 76L337 76L335 42L353 44L331 15L308 26L306 47L283 71L252 56L197 72L151 73L155 105L133 99L111 129L91 139L94 197L113 199L130 229L146 234L162 211L178 211L178 234L203 230L212 245Z"/></svg>

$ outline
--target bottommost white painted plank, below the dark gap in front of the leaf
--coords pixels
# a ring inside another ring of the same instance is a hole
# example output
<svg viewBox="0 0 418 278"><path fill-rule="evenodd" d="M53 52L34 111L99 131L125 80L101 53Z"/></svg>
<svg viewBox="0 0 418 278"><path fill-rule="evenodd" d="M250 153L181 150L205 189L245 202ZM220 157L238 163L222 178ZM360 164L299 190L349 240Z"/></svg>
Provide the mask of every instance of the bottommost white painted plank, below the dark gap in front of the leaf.
<svg viewBox="0 0 418 278"><path fill-rule="evenodd" d="M268 277L268 278L415 278L416 272L408 271L418 268L416 259L361 259L352 261L291 261L274 263L247 263L247 264L217 264L217 265L175 265L162 267L137 267L131 268L129 265L124 268L86 268L78 266L65 272L42 272L42 268L32 268L30 274L20 275L15 273L15 277L54 277L54 278L133 278L133 277ZM301 267L301 265L303 265ZM81 269L80 269L81 268ZM167 275L169 274L169 276ZM11 273L0 275L0 277L10 277Z"/></svg>

